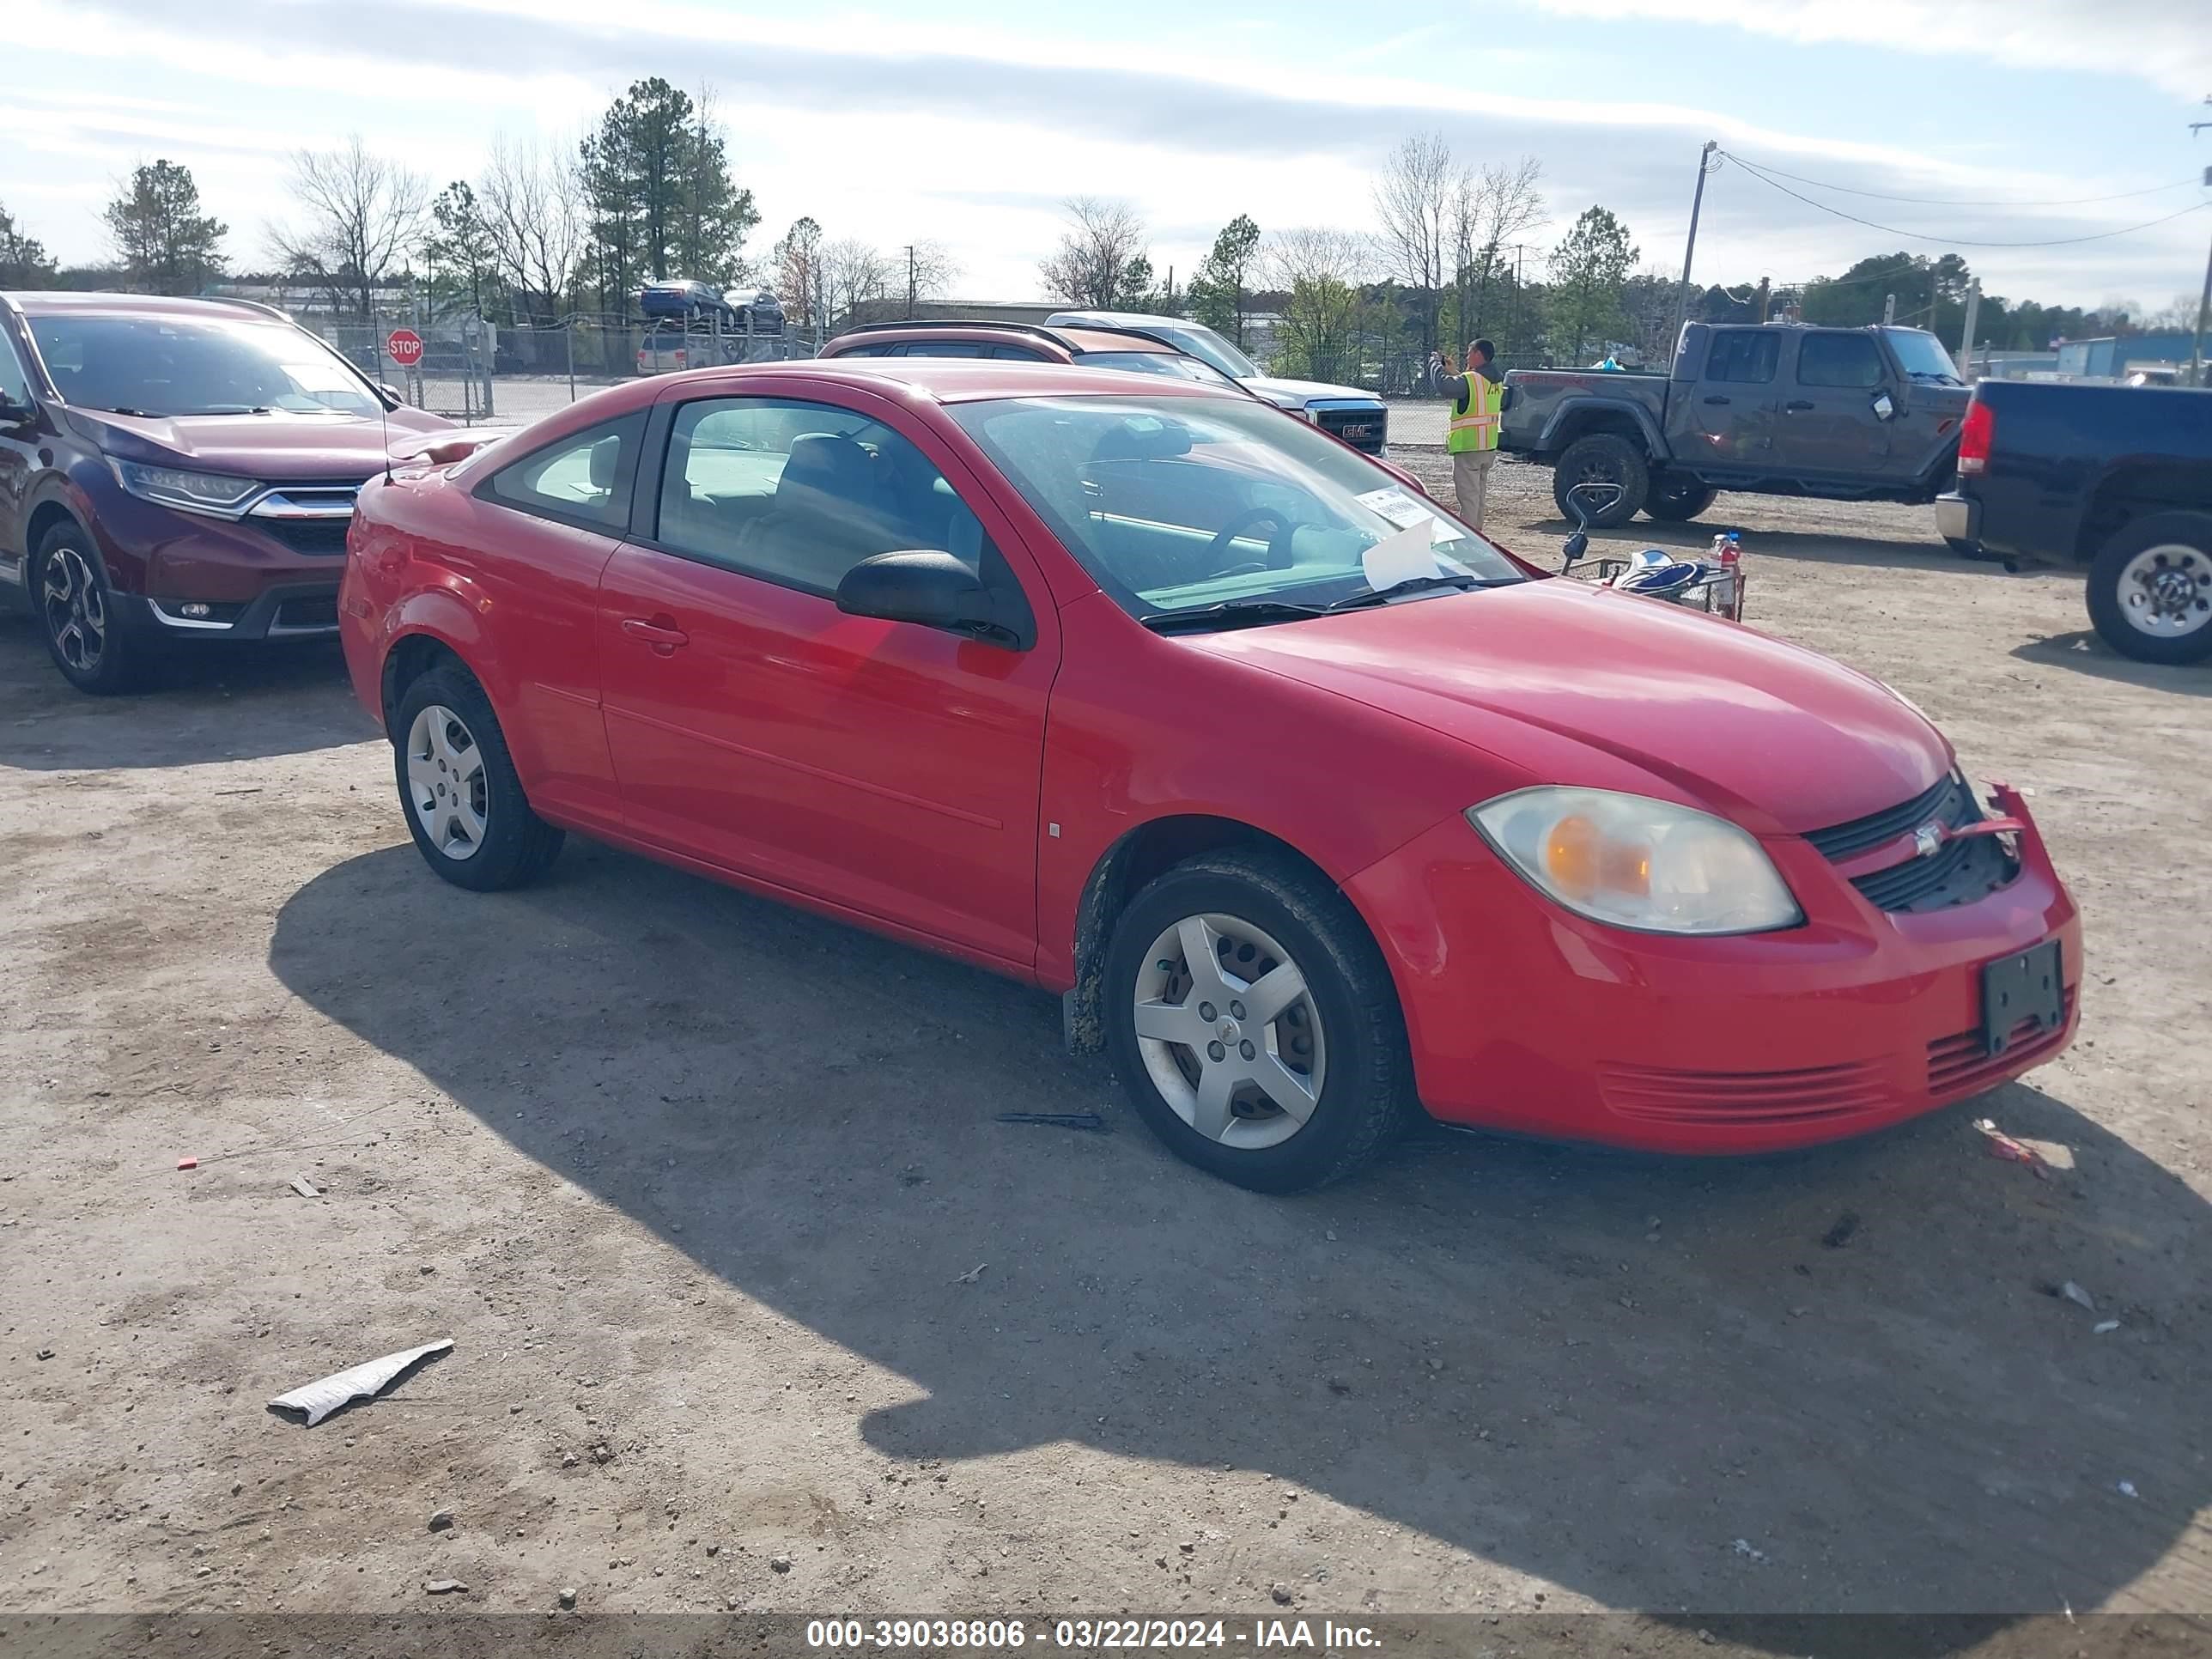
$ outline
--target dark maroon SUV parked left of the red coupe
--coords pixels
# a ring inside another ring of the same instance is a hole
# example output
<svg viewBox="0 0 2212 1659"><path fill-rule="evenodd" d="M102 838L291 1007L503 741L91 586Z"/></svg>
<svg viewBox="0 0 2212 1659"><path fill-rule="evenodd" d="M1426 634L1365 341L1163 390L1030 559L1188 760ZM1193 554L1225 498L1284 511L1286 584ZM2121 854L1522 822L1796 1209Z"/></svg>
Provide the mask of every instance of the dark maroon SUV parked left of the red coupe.
<svg viewBox="0 0 2212 1659"><path fill-rule="evenodd" d="M0 294L0 588L88 692L332 635L354 493L447 425L265 305Z"/></svg>

